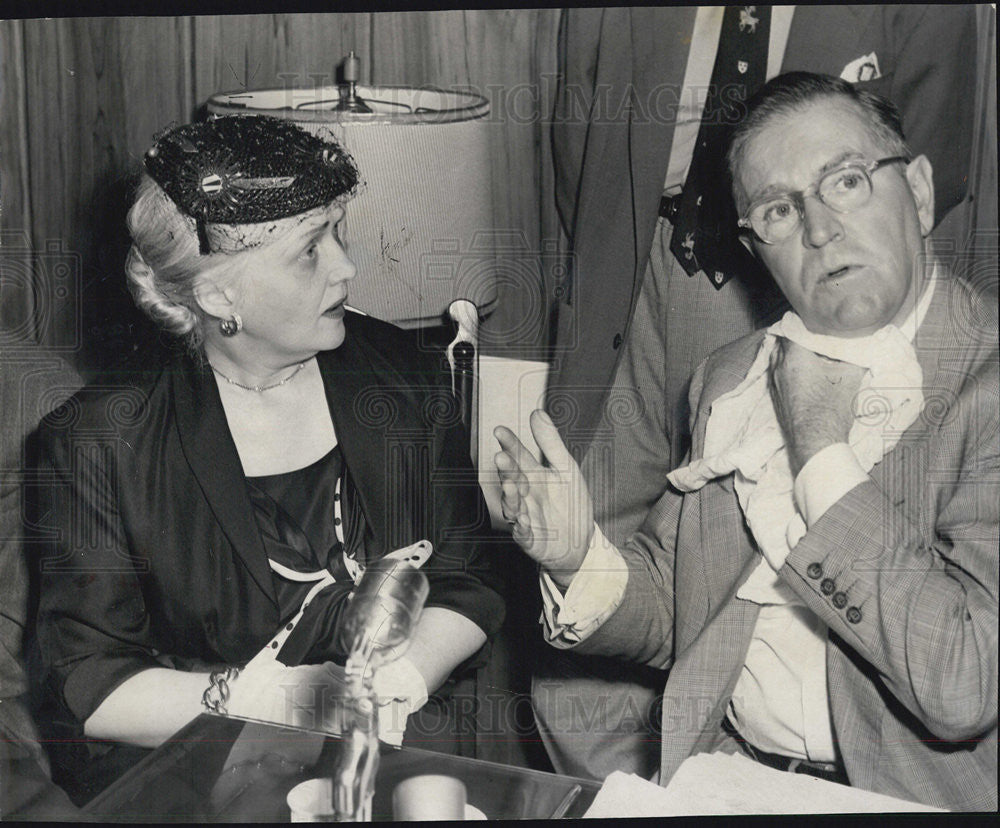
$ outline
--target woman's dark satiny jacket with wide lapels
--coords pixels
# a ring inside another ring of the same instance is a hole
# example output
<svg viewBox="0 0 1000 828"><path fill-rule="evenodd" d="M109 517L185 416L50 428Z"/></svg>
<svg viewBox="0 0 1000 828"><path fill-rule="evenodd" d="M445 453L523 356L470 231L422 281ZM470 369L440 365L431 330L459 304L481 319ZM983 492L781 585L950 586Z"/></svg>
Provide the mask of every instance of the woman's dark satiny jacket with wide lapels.
<svg viewBox="0 0 1000 828"><path fill-rule="evenodd" d="M416 334L355 314L317 359L367 559L429 539L427 606L494 634L488 513L436 364ZM208 365L177 358L137 384L88 386L39 437L38 638L68 724L140 670L242 664L266 644L285 619Z"/></svg>

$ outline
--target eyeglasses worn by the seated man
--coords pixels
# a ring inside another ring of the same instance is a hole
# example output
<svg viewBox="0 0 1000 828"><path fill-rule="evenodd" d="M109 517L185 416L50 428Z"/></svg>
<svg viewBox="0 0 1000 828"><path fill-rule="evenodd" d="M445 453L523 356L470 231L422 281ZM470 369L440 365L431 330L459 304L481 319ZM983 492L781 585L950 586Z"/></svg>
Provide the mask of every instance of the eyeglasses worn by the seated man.
<svg viewBox="0 0 1000 828"><path fill-rule="evenodd" d="M737 224L753 230L764 244L775 244L791 236L802 224L805 200L814 195L831 210L850 213L864 206L872 194L872 173L879 167L910 159L902 155L878 161L848 161L824 173L819 181L797 193L767 196L750 205Z"/></svg>

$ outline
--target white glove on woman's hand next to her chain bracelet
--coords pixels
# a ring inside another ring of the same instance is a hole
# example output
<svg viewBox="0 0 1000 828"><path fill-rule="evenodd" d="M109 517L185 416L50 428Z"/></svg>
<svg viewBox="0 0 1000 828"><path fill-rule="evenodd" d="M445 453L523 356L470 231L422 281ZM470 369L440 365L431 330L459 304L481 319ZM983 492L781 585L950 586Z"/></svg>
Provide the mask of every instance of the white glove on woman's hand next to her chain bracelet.
<svg viewBox="0 0 1000 828"><path fill-rule="evenodd" d="M344 669L332 662L286 667L254 658L230 683L226 710L246 719L337 732L344 686Z"/></svg>

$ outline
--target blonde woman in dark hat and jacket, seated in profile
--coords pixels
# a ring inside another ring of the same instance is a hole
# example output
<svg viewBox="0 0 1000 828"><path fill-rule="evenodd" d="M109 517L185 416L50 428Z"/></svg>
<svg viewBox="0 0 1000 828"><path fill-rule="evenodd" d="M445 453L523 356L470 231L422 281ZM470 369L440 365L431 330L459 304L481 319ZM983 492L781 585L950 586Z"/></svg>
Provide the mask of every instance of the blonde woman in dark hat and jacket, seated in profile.
<svg viewBox="0 0 1000 828"><path fill-rule="evenodd" d="M234 116L168 132L145 171L128 278L189 347L43 424L49 684L86 736L133 745L224 707L221 681L230 713L272 718L260 699L278 688L262 685L343 658L337 620L365 565L424 541L426 608L377 688L411 711L503 603L468 437L435 420L438 362L345 308L354 162L288 122ZM292 673L238 675L272 651Z"/></svg>

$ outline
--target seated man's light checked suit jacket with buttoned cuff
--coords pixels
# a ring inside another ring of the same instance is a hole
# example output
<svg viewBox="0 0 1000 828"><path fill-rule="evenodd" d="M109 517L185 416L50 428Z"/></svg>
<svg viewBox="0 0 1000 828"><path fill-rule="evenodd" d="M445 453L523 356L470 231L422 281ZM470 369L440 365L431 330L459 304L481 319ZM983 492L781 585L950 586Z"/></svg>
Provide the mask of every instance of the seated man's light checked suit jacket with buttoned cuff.
<svg viewBox="0 0 1000 828"><path fill-rule="evenodd" d="M712 402L743 379L762 337L725 346L695 373L694 457ZM779 574L829 627L833 732L851 784L950 809L995 809L995 299L983 301L959 280L939 282L914 345L923 412L869 480L809 529ZM668 490L622 552L624 601L577 650L670 668L665 784L687 756L719 745L757 619L757 605L735 597L760 557L733 475L685 496ZM822 574L809 573L814 564ZM824 578L846 594L843 608L822 593Z"/></svg>

